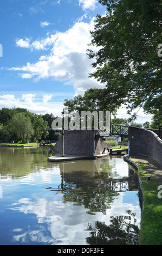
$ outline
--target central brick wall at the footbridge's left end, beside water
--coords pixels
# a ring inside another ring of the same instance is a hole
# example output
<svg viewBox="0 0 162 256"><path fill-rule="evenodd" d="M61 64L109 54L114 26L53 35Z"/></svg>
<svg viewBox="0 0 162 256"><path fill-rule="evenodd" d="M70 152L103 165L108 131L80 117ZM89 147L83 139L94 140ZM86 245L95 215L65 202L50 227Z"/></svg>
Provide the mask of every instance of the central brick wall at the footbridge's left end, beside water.
<svg viewBox="0 0 162 256"><path fill-rule="evenodd" d="M112 148L102 139L95 138L95 134L94 130L64 132L64 154L96 156L100 155L104 148ZM53 149L56 153L62 153L62 135Z"/></svg>

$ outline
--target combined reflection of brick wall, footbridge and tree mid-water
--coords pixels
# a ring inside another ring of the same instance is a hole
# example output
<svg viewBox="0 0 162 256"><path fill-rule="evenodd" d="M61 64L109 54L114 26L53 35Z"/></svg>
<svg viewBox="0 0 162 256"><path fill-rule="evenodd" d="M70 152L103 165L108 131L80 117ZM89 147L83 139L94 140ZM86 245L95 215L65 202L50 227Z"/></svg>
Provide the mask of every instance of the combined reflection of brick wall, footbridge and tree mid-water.
<svg viewBox="0 0 162 256"><path fill-rule="evenodd" d="M128 176L123 177L113 167L109 161L101 159L85 160L81 165L78 162L63 163L60 164L61 184L47 189L62 192L63 203L83 205L88 214L102 212L106 215L106 210L119 192L138 191L138 176L131 167Z"/></svg>

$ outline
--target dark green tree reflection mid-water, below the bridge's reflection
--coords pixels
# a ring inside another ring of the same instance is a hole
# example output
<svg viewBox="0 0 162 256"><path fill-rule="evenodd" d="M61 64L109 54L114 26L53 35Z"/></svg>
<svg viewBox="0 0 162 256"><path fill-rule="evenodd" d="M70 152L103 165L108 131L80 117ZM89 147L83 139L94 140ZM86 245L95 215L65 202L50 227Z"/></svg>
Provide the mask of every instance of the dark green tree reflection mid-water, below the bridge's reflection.
<svg viewBox="0 0 162 256"><path fill-rule="evenodd" d="M98 181L93 187L68 184L64 186L63 203L73 202L74 205L84 205L88 209L88 214L102 212L105 215L115 196L118 196L118 193L111 183L104 184L103 181Z"/></svg>

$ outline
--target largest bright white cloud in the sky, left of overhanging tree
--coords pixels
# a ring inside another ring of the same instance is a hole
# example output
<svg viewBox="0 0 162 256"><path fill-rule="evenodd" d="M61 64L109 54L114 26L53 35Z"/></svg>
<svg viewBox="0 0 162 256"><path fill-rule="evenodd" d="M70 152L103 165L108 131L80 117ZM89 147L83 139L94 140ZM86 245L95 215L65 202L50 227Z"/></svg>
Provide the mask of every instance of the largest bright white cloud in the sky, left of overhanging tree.
<svg viewBox="0 0 162 256"><path fill-rule="evenodd" d="M103 84L88 78L93 70L92 60L88 59L86 50L91 41L89 31L93 27L93 20L90 23L80 20L66 32L57 32L46 38L30 41L31 51L48 50L50 47L50 52L41 56L36 63L27 63L21 68L13 67L10 70L23 71L25 73L20 74L22 78L33 77L34 81L52 77L56 81L73 84L76 94L82 94L93 87L103 88Z"/></svg>

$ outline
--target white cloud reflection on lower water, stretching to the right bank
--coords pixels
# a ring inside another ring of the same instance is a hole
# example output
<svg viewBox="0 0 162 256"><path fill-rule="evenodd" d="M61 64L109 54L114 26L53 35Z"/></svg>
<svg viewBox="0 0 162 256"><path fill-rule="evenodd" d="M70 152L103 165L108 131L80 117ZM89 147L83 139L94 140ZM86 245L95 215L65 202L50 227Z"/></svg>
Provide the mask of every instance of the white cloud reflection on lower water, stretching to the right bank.
<svg viewBox="0 0 162 256"><path fill-rule="evenodd" d="M107 210L107 215L96 212L95 216L86 214L83 206L74 206L73 203L63 204L61 194L55 202L48 202L46 198L35 197L33 200L22 198L18 201L17 207L12 210L23 212L24 214L35 214L35 225L28 225L27 229L13 229L14 241L21 243L46 243L50 245L86 245L86 237L89 232L84 231L88 223L95 221L105 222L109 225L109 216L127 215L127 210L137 212L137 225L140 223L140 212L138 206L133 204L123 204L124 193L120 193L114 199L111 209ZM35 202L34 202L35 199ZM12 205L13 206L13 205ZM120 212L119 212L120 209Z"/></svg>

